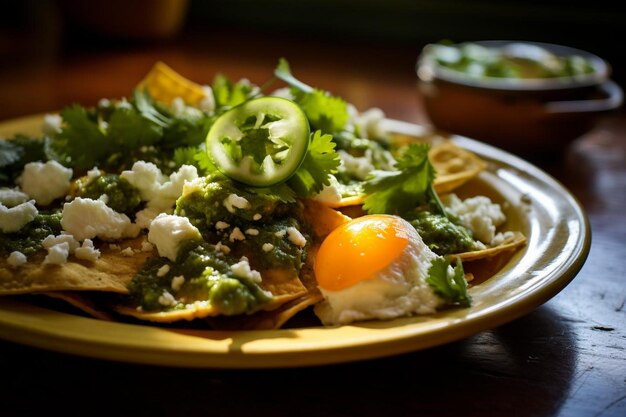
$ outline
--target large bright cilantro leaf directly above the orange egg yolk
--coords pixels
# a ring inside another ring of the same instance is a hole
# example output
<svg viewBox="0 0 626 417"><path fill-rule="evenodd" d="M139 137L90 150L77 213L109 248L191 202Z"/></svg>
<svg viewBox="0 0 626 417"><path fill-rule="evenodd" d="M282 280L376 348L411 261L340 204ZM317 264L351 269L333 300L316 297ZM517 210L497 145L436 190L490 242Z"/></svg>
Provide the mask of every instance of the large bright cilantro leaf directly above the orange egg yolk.
<svg viewBox="0 0 626 417"><path fill-rule="evenodd" d="M432 187L435 169L428 160L429 149L427 144L409 145L396 162L396 171L373 171L363 184L365 210L403 215L426 203L439 208Z"/></svg>

